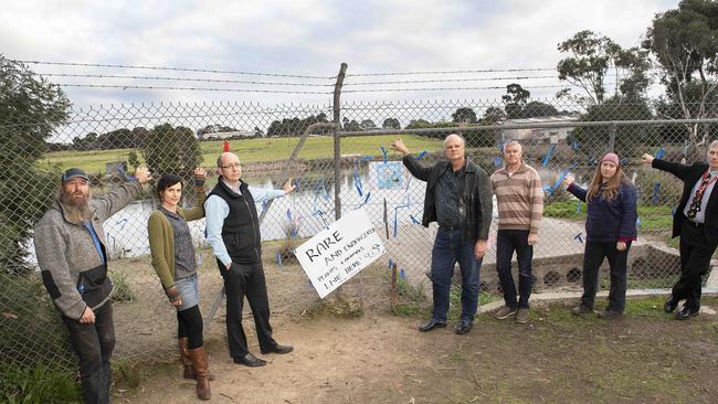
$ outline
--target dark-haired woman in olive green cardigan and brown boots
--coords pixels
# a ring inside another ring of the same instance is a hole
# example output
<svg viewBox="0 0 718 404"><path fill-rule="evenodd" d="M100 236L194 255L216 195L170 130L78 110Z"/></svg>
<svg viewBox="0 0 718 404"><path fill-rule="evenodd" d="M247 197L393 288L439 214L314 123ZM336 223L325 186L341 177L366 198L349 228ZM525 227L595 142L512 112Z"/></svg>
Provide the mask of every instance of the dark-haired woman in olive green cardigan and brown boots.
<svg viewBox="0 0 718 404"><path fill-rule="evenodd" d="M194 170L197 205L179 208L182 179L163 174L157 182L160 206L147 222L152 266L170 302L177 309L177 338L184 379L197 379L197 396L210 398L211 374L202 340L202 313L199 308L197 257L187 222L204 217L202 168Z"/></svg>

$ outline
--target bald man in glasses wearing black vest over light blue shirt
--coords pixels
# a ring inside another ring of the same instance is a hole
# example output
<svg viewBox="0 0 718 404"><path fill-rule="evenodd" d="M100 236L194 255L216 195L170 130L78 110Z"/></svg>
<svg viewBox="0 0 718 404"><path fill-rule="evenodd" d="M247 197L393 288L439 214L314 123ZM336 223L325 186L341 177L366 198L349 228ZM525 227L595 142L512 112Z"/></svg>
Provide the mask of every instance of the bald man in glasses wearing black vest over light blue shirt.
<svg viewBox="0 0 718 404"><path fill-rule="evenodd" d="M262 237L255 203L283 196L295 187L291 181L282 190L249 187L241 180L242 166L236 155L224 152L217 160L221 172L217 185L204 202L207 241L212 246L226 294L226 333L230 354L235 363L263 366L266 361L250 353L242 327L244 297L250 302L262 353L289 353L293 348L272 338L270 301L262 267Z"/></svg>

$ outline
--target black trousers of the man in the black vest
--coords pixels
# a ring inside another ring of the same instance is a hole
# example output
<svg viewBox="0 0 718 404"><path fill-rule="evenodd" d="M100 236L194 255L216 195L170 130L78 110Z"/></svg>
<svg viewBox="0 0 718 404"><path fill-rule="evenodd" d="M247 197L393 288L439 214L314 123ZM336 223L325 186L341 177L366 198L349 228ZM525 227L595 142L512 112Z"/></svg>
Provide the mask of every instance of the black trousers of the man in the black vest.
<svg viewBox="0 0 718 404"><path fill-rule="evenodd" d="M224 293L226 294L226 336L229 338L230 355L239 358L250 353L244 327L242 327L242 310L245 297L254 317L260 349L268 351L276 347L277 342L272 338L270 300L266 294L266 280L262 263L232 263L229 270L222 263L219 263L219 266L224 278Z"/></svg>

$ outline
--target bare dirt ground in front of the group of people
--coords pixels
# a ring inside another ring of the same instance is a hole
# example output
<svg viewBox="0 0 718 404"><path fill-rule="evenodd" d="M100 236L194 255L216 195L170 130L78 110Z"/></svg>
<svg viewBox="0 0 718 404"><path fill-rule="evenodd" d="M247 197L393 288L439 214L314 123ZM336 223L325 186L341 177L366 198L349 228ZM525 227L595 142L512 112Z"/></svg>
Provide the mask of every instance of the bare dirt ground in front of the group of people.
<svg viewBox="0 0 718 404"><path fill-rule="evenodd" d="M386 291L386 283L376 285ZM273 320L275 337L293 353L260 355L249 336L264 368L234 364L224 341L209 344L212 402L715 403L718 316L676 321L662 302L630 300L616 321L574 318L573 302L534 307L529 325L483 313L466 336L453 333L455 320L418 332L425 302L411 318L383 304L355 319L283 312ZM715 310L718 298L706 297L704 307ZM144 370L138 387L115 389L115 403L199 402L179 364Z"/></svg>

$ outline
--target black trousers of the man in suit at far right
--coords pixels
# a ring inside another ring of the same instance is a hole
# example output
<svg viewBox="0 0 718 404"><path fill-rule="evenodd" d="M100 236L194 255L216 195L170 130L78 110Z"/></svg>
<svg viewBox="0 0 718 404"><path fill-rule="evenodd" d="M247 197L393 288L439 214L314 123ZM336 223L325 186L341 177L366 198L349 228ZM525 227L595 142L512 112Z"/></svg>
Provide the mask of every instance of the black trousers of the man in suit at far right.
<svg viewBox="0 0 718 404"><path fill-rule="evenodd" d="M715 243L708 243L704 226L683 222L680 228L680 277L673 286L673 298L686 299L686 307L700 308L700 284L708 273Z"/></svg>

